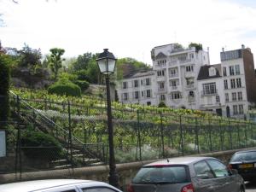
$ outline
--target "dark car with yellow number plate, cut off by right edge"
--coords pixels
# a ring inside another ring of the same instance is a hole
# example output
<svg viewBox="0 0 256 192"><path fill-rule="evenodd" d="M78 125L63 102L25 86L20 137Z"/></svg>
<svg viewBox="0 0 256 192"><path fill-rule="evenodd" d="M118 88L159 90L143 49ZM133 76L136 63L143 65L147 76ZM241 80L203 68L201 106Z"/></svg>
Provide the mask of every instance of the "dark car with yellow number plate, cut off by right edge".
<svg viewBox="0 0 256 192"><path fill-rule="evenodd" d="M256 150L244 150L233 154L229 163L246 181L256 181Z"/></svg>

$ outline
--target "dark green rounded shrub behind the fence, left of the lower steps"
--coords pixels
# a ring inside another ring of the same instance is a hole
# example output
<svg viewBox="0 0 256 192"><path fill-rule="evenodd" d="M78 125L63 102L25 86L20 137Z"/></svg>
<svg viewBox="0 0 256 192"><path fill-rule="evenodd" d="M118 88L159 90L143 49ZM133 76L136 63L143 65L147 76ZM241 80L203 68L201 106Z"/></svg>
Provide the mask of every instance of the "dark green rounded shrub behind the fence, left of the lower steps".
<svg viewBox="0 0 256 192"><path fill-rule="evenodd" d="M29 158L56 160L63 156L61 144L43 132L25 131L20 143L24 154Z"/></svg>

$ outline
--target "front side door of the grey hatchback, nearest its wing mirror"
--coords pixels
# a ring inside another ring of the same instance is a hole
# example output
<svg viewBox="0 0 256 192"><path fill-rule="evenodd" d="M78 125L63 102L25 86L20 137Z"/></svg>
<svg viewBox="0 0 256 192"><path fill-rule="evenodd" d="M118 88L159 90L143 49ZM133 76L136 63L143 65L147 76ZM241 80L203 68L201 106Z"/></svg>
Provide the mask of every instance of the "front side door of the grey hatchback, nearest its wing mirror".
<svg viewBox="0 0 256 192"><path fill-rule="evenodd" d="M230 173L228 172L226 166L218 160L207 160L207 163L212 169L215 175L218 187L216 191L219 192L236 192L236 186L232 186L230 183Z"/></svg>

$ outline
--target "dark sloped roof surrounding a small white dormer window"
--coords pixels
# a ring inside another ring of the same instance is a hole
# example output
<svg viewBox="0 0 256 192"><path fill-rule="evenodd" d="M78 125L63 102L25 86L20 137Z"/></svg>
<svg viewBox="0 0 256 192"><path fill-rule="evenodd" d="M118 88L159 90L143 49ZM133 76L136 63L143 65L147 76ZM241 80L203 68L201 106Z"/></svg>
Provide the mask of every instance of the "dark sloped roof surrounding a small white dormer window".
<svg viewBox="0 0 256 192"><path fill-rule="evenodd" d="M216 69L216 75L210 76L209 75L209 68L214 67ZM203 79L215 79L221 77L221 65L215 64L215 65L205 65L200 68L200 71L198 73L197 80L203 80Z"/></svg>

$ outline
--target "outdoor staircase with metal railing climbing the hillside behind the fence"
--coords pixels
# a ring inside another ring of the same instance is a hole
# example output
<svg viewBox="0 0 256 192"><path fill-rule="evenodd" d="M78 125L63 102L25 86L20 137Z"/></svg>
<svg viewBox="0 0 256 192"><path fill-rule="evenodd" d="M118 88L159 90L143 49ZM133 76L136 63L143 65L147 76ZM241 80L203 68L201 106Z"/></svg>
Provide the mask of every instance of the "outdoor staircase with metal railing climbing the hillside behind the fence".
<svg viewBox="0 0 256 192"><path fill-rule="evenodd" d="M63 151L66 152L66 158L50 162L51 167L55 169L75 167L75 166L96 166L106 164L104 157L104 148L102 143L83 143L77 137L57 125L43 113L12 91L9 93L10 101L14 108L12 113L24 123L33 124L38 131L43 131L55 137L60 143Z"/></svg>

